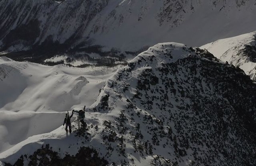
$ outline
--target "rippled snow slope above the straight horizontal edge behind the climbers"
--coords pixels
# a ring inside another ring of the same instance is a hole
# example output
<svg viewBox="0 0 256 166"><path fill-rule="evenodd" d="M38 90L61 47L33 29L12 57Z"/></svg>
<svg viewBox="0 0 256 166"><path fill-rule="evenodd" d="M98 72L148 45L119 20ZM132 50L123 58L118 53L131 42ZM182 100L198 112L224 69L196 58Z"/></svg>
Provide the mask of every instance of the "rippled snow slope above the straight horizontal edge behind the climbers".
<svg viewBox="0 0 256 166"><path fill-rule="evenodd" d="M52 67L0 58L0 92L5 94L1 96L0 109L64 111L76 104L90 105L98 95L98 88L92 87L102 87L113 70L116 69ZM85 93L92 96L88 98Z"/></svg>

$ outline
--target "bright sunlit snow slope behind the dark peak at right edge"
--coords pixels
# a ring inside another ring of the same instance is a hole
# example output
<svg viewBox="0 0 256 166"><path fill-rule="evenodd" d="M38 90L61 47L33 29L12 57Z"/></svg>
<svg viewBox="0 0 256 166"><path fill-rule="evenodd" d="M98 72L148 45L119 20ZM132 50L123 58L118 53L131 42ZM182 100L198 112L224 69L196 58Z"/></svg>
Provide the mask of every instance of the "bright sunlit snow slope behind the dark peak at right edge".
<svg viewBox="0 0 256 166"><path fill-rule="evenodd" d="M256 31L220 39L200 48L207 49L223 62L238 66L251 79L256 80Z"/></svg>

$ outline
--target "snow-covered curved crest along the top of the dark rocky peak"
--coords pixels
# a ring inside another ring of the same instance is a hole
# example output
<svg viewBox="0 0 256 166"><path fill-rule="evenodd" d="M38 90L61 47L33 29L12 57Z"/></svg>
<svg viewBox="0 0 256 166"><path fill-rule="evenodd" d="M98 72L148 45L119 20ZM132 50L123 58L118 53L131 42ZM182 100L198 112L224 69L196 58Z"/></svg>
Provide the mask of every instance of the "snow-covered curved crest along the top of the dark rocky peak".
<svg viewBox="0 0 256 166"><path fill-rule="evenodd" d="M161 66L162 63L174 63L178 59L186 58L191 55L196 55L196 53L192 52L192 48L181 43L158 43L155 46L149 47L148 50L140 53L131 60L126 67L119 69L112 78L106 81L105 86L101 88L98 102L94 103L92 107L95 108L96 111L111 110L111 108L96 105L102 105L104 103L103 101L107 100L110 96L118 96L121 91L117 89L113 90L113 85L117 84L117 81L120 81L123 72L126 72L126 75L130 75L127 73L130 71L132 75L139 76L139 74L141 74L140 71L143 71L146 68L156 68L157 66ZM124 81L124 85L125 84ZM123 87L120 88L122 89Z"/></svg>

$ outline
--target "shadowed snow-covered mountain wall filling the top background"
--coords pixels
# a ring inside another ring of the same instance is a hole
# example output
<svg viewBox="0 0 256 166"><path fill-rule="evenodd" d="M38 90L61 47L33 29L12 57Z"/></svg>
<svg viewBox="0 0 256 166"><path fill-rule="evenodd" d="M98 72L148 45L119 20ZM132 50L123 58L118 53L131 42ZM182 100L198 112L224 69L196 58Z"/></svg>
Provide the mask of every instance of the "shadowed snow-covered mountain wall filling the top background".
<svg viewBox="0 0 256 166"><path fill-rule="evenodd" d="M166 41L201 46L255 31L255 15L255 0L3 0L0 49L42 62L77 52L91 60L111 49L120 56Z"/></svg>

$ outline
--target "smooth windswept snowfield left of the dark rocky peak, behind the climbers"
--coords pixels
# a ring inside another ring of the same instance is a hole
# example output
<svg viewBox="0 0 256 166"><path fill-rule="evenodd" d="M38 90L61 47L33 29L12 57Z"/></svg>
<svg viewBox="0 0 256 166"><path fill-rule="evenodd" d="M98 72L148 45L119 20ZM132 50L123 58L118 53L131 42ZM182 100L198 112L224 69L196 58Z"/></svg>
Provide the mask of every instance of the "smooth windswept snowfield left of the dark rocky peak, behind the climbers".
<svg viewBox="0 0 256 166"><path fill-rule="evenodd" d="M117 68L52 67L1 57L0 154L28 138L36 142L59 128L63 133L65 113L89 107ZM48 134L31 138L42 133Z"/></svg>

